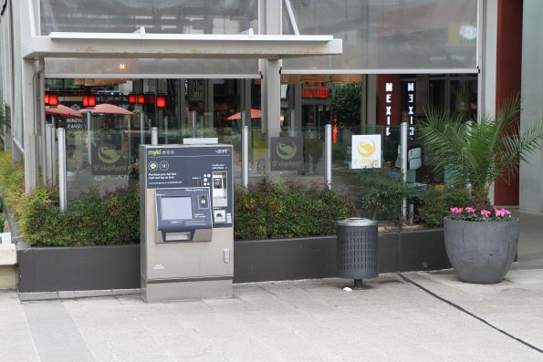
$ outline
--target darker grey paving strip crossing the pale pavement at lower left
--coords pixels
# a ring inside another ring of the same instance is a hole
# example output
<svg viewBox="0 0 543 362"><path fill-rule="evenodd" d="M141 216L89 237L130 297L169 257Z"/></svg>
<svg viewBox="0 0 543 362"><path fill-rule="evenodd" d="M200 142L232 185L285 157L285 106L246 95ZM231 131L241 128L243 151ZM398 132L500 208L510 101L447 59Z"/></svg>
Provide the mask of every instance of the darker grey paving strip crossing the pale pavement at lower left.
<svg viewBox="0 0 543 362"><path fill-rule="evenodd" d="M23 309L41 362L95 361L62 302L23 303Z"/></svg>

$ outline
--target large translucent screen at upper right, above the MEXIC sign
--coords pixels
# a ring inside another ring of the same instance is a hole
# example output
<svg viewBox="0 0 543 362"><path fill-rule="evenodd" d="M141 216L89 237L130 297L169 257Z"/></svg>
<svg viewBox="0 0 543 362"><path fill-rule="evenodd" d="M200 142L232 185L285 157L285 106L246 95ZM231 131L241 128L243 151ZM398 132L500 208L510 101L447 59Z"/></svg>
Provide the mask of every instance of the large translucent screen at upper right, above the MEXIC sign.
<svg viewBox="0 0 543 362"><path fill-rule="evenodd" d="M291 0L291 4L301 35L339 37L343 55L285 59L285 69L476 67L476 0ZM284 34L292 34L289 21L283 24Z"/></svg>

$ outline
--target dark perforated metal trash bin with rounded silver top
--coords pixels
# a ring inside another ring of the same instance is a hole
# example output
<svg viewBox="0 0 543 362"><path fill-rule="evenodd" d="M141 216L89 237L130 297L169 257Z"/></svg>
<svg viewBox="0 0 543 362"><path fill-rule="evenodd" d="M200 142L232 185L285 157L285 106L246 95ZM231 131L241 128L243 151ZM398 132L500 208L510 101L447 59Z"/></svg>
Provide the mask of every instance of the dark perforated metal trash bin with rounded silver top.
<svg viewBox="0 0 543 362"><path fill-rule="evenodd" d="M354 279L361 286L362 279L379 275L377 222L351 218L337 222L338 274Z"/></svg>

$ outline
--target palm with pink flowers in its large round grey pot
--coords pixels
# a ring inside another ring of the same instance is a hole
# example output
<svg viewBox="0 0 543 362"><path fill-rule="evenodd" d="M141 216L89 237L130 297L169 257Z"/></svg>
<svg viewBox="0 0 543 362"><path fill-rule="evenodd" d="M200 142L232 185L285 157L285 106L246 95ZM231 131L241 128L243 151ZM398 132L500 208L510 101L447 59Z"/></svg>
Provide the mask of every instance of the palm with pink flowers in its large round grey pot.
<svg viewBox="0 0 543 362"><path fill-rule="evenodd" d="M518 172L518 162L538 150L543 119L520 133L519 101L505 102L496 118L463 119L438 109L426 111L418 137L435 170L472 192L473 204L457 205L444 218L445 248L458 277L468 283L503 280L517 253L519 222L488 202L497 177Z"/></svg>

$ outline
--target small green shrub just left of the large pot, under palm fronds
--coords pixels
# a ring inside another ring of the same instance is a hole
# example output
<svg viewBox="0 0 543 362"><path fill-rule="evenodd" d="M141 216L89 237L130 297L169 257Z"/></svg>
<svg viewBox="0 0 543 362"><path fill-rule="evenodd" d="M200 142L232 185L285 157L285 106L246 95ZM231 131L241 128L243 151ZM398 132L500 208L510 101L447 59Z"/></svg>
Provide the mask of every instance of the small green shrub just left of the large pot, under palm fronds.
<svg viewBox="0 0 543 362"><path fill-rule="evenodd" d="M474 205L474 200L465 189L444 185L434 185L425 191L419 216L428 226L441 227L443 219L452 207Z"/></svg>

